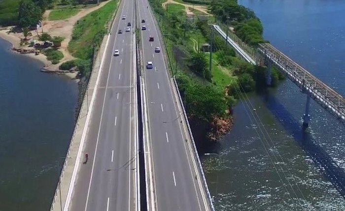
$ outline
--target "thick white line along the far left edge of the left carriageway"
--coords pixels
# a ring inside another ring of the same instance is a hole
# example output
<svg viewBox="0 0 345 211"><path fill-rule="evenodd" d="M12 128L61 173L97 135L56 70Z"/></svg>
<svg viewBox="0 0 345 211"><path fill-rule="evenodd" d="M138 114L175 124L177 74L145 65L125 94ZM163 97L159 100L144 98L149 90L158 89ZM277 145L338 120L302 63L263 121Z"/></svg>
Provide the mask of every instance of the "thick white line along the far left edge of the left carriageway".
<svg viewBox="0 0 345 211"><path fill-rule="evenodd" d="M98 84L99 84L99 81L100 81L100 75L101 75L101 71L103 70L104 57L105 57L105 52L107 51L107 48L108 48L109 39L110 39L110 34L108 34L108 38L107 38L106 43L105 43L105 48L104 48L101 64L100 64L100 67L99 67L99 70L98 70L98 76L97 76L97 79L96 79L95 88L98 87ZM94 105L94 101L95 101L95 97L96 97L96 92L97 92L97 89L94 90L94 92L92 93L89 111L92 111L92 108L93 108L93 105ZM66 201L65 201L64 211L68 211L68 209L69 209L69 204L70 204L72 192L73 192L73 189L74 189L74 182L75 182L75 179L76 179L77 170L78 170L79 164L80 164L79 161L80 161L81 151L83 150L83 147L84 147L86 130L87 130L88 125L89 125L90 116L91 116L91 112L88 112L87 116L86 116L86 121L85 121L84 129L83 129L83 133L81 135L81 141L80 141L80 144L79 144L79 149L78 149L78 152L77 152L77 157L75 159L75 164L74 164L74 168L73 168L72 178L71 178L71 181L69 182L69 190L68 190Z"/></svg>

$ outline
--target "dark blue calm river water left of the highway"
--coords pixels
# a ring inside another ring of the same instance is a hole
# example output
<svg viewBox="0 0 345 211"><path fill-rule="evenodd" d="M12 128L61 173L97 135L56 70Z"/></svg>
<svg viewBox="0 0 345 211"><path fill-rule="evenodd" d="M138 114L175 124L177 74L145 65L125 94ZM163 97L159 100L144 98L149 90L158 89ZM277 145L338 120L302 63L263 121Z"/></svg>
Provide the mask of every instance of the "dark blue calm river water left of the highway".
<svg viewBox="0 0 345 211"><path fill-rule="evenodd" d="M77 84L0 39L0 211L48 211L74 128Z"/></svg>

